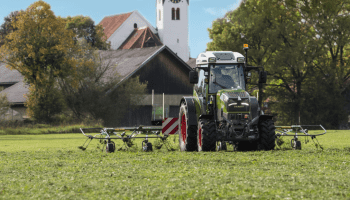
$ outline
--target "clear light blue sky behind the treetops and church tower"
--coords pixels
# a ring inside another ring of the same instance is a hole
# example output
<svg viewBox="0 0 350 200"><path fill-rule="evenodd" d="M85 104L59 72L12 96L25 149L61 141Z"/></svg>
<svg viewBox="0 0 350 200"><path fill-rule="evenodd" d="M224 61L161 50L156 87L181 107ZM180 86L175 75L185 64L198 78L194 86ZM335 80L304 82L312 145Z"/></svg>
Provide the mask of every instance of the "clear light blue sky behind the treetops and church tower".
<svg viewBox="0 0 350 200"><path fill-rule="evenodd" d="M154 27L156 26L156 0L44 0L57 16L84 15L98 24L105 16L138 10ZM35 0L0 0L0 24L15 10L25 10ZM190 0L189 46L191 57L205 51L210 42L208 28L229 10L239 6L240 0Z"/></svg>

